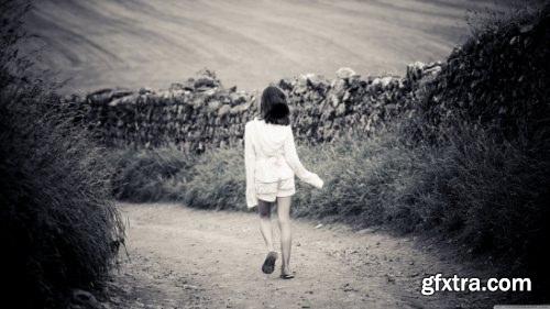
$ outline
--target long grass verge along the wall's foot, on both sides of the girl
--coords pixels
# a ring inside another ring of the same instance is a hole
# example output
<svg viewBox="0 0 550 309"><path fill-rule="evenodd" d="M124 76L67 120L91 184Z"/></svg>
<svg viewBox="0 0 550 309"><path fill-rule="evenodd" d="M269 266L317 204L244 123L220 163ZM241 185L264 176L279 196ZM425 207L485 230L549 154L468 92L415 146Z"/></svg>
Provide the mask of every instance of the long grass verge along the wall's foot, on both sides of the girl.
<svg viewBox="0 0 550 309"><path fill-rule="evenodd" d="M540 197L548 194L543 184L550 165L534 156L539 146L519 140L501 143L485 130L464 128L437 146L410 146L395 132L386 132L375 139L300 147L305 165L326 180L326 187L317 190L298 183L293 212L358 227L387 224L402 232L438 229L460 235L479 251L507 251L529 239L525 233L534 230L529 224L538 221ZM176 148L133 152L134 166L163 167L166 157L179 158L165 178L162 169L146 172L150 177L128 174L139 178L125 180L139 184L124 188L128 196L146 191L145 199L136 201L246 209L241 148L207 152L193 165Z"/></svg>

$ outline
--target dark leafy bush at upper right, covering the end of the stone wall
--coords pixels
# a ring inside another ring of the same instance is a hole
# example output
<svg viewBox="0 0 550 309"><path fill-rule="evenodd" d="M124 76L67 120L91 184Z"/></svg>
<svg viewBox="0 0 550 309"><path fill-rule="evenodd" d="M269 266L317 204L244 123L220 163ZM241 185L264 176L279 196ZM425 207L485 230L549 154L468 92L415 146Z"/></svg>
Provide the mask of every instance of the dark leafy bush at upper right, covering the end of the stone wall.
<svg viewBox="0 0 550 309"><path fill-rule="evenodd" d="M492 128L503 140L550 136L550 4L508 18L482 20L447 58L441 73L420 85L406 128L439 140L459 123Z"/></svg>

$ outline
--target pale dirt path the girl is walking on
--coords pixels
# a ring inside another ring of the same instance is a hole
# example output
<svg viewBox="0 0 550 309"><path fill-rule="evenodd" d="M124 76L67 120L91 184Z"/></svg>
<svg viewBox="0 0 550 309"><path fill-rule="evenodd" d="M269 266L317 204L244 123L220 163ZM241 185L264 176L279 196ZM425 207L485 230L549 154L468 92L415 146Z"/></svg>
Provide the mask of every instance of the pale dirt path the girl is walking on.
<svg viewBox="0 0 550 309"><path fill-rule="evenodd" d="M469 275L408 238L295 221L293 280L264 275L252 213L121 205L130 261L116 308L472 308L480 295L420 294L427 274ZM278 266L278 264L277 264ZM485 295L486 296L486 295ZM475 297L475 298L474 298Z"/></svg>

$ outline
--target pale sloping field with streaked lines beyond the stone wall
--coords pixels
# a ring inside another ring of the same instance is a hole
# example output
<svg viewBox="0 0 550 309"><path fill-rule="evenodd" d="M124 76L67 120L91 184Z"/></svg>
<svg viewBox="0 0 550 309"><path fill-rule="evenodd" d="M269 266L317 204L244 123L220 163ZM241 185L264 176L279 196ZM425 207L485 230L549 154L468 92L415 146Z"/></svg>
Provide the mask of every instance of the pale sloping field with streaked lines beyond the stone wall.
<svg viewBox="0 0 550 309"><path fill-rule="evenodd" d="M44 0L26 26L42 37L41 66L70 79L66 91L167 87L204 67L256 89L342 66L399 74L442 59L468 34L468 10L495 2Z"/></svg>

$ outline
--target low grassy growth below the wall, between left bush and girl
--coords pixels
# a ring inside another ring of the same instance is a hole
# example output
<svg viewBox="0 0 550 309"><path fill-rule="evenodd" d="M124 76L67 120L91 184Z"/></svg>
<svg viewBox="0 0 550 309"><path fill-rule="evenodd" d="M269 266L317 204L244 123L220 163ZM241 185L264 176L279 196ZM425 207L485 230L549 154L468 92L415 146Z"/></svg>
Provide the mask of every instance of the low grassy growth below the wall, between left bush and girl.
<svg viewBox="0 0 550 309"><path fill-rule="evenodd" d="M177 147L119 150L114 196L134 202L176 200L202 209L245 209L239 148L188 155Z"/></svg>

